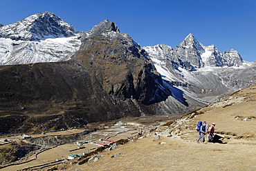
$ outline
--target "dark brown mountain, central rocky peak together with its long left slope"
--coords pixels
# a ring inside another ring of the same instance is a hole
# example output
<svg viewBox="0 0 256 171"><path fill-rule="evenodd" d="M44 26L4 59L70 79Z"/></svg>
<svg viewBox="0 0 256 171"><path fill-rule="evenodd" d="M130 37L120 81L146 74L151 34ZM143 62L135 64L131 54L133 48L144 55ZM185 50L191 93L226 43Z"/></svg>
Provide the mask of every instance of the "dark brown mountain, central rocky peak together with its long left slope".
<svg viewBox="0 0 256 171"><path fill-rule="evenodd" d="M102 22L104 29L115 26ZM95 28L84 34L70 61L0 67L1 133L77 128L170 112L158 102L172 92L140 46L128 34ZM174 105L185 106L179 101Z"/></svg>

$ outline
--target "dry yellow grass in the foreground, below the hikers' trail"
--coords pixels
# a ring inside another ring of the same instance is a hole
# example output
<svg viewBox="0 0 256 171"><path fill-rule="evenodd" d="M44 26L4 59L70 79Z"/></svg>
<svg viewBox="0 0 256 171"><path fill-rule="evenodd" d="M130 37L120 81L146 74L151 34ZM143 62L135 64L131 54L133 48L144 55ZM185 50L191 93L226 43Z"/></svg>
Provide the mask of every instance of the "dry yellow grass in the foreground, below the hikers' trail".
<svg viewBox="0 0 256 171"><path fill-rule="evenodd" d="M166 144L160 145L161 141ZM73 165L68 170L255 170L255 154L255 145L145 138L105 152L99 161Z"/></svg>

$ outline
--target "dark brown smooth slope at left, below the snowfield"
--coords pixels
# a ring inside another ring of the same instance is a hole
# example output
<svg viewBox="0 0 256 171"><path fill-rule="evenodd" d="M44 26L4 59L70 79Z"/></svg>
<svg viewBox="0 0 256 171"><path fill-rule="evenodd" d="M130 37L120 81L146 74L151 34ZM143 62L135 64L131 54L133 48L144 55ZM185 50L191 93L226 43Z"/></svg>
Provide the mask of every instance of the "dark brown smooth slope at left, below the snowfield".
<svg viewBox="0 0 256 171"><path fill-rule="evenodd" d="M66 129L139 115L132 103L115 105L118 101L79 61L1 66L0 72L0 121L4 123L0 134Z"/></svg>

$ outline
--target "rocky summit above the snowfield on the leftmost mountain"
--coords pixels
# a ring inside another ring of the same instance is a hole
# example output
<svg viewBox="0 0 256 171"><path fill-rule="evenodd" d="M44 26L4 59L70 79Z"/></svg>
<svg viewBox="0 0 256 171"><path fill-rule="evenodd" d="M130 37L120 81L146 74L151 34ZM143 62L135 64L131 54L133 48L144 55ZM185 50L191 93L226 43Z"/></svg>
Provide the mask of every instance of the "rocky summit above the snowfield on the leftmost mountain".
<svg viewBox="0 0 256 171"><path fill-rule="evenodd" d="M71 37L74 35L75 28L53 12L33 14L21 21L0 28L0 37L12 40L38 41L49 37Z"/></svg>

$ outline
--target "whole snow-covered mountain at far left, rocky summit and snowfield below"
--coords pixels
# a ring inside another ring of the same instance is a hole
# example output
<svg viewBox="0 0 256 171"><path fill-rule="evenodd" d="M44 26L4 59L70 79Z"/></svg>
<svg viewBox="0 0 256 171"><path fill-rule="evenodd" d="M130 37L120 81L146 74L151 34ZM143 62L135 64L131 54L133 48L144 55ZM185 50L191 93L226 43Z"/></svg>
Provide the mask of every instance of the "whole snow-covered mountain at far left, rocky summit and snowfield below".
<svg viewBox="0 0 256 171"><path fill-rule="evenodd" d="M66 61L80 48L80 33L53 12L0 27L0 65Z"/></svg>

